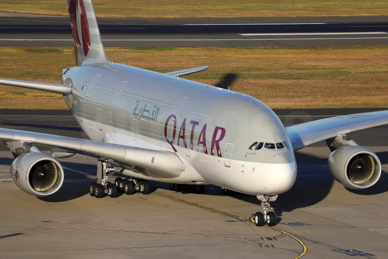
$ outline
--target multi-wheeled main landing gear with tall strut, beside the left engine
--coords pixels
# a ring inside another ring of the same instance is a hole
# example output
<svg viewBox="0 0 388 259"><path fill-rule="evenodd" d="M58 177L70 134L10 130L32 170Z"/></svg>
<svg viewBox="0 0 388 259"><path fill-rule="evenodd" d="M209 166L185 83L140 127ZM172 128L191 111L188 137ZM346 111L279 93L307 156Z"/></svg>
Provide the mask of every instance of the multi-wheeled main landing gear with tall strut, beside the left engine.
<svg viewBox="0 0 388 259"><path fill-rule="evenodd" d="M133 194L135 192L141 192L142 194L149 194L149 183L146 180L139 180L129 178L128 180L120 177L116 178L115 183L108 181L108 177L113 173L120 172L122 168L108 168L107 161L99 160L97 163L97 177L99 183L93 182L90 184L89 194L96 198L103 198L110 196L116 198L119 194Z"/></svg>

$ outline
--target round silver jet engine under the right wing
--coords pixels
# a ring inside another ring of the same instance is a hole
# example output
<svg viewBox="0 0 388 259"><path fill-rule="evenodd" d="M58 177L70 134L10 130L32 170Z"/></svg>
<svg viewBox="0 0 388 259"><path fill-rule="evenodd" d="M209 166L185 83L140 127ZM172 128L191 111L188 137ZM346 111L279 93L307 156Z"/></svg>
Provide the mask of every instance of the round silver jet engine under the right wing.
<svg viewBox="0 0 388 259"><path fill-rule="evenodd" d="M380 159L361 146L339 147L330 154L327 165L334 179L351 189L369 188L381 175Z"/></svg>

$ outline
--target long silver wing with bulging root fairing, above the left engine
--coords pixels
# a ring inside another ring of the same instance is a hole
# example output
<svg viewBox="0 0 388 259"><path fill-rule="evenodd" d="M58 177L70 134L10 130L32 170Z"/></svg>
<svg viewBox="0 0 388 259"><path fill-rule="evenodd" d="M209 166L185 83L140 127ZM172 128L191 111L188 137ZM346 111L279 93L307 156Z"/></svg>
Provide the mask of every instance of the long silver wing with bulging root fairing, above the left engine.
<svg viewBox="0 0 388 259"><path fill-rule="evenodd" d="M33 142L99 159L109 159L119 165L135 168L139 173L148 171L165 178L178 177L185 170L181 159L169 151L140 149L87 139L2 128L0 128L0 140Z"/></svg>

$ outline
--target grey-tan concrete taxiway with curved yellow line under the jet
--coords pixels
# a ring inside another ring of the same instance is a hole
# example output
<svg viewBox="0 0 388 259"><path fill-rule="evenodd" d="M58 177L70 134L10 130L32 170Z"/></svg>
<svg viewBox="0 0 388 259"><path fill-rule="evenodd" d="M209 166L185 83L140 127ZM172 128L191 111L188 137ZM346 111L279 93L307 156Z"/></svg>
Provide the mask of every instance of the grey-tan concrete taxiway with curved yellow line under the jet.
<svg viewBox="0 0 388 259"><path fill-rule="evenodd" d="M383 109L275 112L288 126L375 110ZM0 127L85 137L69 111L3 109ZM297 151L295 185L272 204L274 228L250 222L259 211L255 196L222 195L213 185L204 194L181 194L151 181L149 195L96 199L88 194L96 160L82 155L60 159L65 182L57 194L30 196L10 181L13 157L1 145L1 258L387 258L387 134L387 126L349 134L383 164L380 181L364 191L333 180L324 143Z"/></svg>

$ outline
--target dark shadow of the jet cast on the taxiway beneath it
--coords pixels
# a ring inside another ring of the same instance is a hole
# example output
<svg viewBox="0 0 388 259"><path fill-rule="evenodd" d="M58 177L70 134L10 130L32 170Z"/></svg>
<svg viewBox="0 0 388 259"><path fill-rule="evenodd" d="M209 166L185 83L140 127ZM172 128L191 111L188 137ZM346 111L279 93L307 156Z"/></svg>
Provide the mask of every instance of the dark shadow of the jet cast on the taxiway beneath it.
<svg viewBox="0 0 388 259"><path fill-rule="evenodd" d="M388 163L388 152L377 152L376 154L381 158L381 162L383 164ZM292 211L294 209L305 208L319 203L327 197L335 181L331 175L328 175L330 173L326 167L327 158L318 158L313 155L300 152L296 152L295 156L299 168L296 181L289 191L285 194L280 194L278 199L275 202L272 202L272 207L275 211L278 211L277 216L282 216L282 211ZM3 157L0 158L0 165L11 165L12 161L13 158ZM66 168L76 169L80 172L85 172L87 170L87 173L93 175L96 174L95 165L66 162L63 160L60 162ZM307 169L304 168L306 165ZM117 177L123 177L122 175L114 174L114 176L116 175ZM382 176L376 185L366 190L346 189L351 193L360 195L385 193L388 191L388 185L384 182L383 177L386 176ZM80 181L66 181L72 179L78 179ZM60 191L48 197L39 197L39 199L47 202L63 202L79 198L88 194L89 185L92 181L94 181L94 178L90 178L87 175L65 170L65 182L63 183ZM169 184L150 181L150 192L155 192L158 189L169 190ZM199 195L221 196L225 194L221 193L220 187L207 185L205 193ZM237 193L231 197L251 204L256 204L258 211L260 209L260 204L254 195ZM182 199L184 199L184 194L182 195Z"/></svg>

